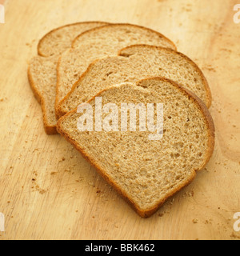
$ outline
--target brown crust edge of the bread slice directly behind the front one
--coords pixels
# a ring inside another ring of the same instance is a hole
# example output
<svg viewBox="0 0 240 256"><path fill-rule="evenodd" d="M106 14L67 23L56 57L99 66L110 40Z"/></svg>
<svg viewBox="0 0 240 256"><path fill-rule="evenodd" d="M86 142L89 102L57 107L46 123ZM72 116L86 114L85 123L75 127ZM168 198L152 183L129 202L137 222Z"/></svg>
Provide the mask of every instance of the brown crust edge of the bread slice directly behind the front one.
<svg viewBox="0 0 240 256"><path fill-rule="evenodd" d="M196 70L198 71L198 74L201 76L203 82L204 82L204 86L206 89L206 106L207 108L210 108L211 106L211 102L212 102L212 94L210 91L210 86L209 83L206 80L206 77L204 76L204 74L202 73L202 70L198 67L198 65L192 61L189 57L187 57L185 54L182 54L178 51L172 50L170 48L165 48L165 47L161 47L161 46L150 46L150 45L132 45L132 46L127 46L121 50L118 51L118 55L117 56L122 56L124 57L124 55L122 55L122 51L129 49L129 48L134 48L135 46L142 46L142 47L149 47L149 48L155 48L155 49L161 49L161 50L168 50L171 52L174 52L175 54L179 54L181 55L183 58L186 58L186 60L188 62L190 62L191 64L193 64L196 68ZM99 59L96 59L94 62L90 63L90 66L88 66L88 68L86 69L86 71L82 74L82 76L78 79L77 82L74 83L74 85L72 86L72 89L70 90L70 92L68 94L66 94L65 98L63 98L60 102L58 102L58 104L56 104L56 114L57 114L57 118L61 118L63 115L65 115L68 111L64 110L62 105L64 104L64 102L66 102L66 100L70 97L70 94L72 94L72 92L76 89L76 87L78 86L78 82L80 82L85 76L86 74L90 71L91 67L94 66L94 64L96 62L98 62ZM58 65L60 64L61 59L59 58L58 60ZM58 67L57 67L58 70ZM57 88L58 88L58 84L57 84ZM58 90L58 89L57 89Z"/></svg>

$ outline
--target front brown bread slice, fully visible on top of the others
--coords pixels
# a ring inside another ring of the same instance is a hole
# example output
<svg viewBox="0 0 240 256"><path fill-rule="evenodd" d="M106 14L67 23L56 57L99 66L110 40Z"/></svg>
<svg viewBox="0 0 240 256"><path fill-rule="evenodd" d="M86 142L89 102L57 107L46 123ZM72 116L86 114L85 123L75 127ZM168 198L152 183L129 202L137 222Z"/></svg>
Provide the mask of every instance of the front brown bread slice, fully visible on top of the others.
<svg viewBox="0 0 240 256"><path fill-rule="evenodd" d="M77 109L60 118L57 125L58 132L140 216L150 217L167 198L192 182L196 171L210 160L214 150L214 123L209 110L190 91L165 78L112 86L90 99L88 105L82 104L81 109L92 106L95 113L97 97L102 98L102 107L107 103L117 105L119 113L122 103L163 104L162 140L150 141L150 131L138 128L122 132L121 128L80 131L77 127L82 114ZM102 113L102 120L108 118L109 125L113 124L110 113ZM119 114L119 122L120 119ZM118 127L121 127L119 123Z"/></svg>

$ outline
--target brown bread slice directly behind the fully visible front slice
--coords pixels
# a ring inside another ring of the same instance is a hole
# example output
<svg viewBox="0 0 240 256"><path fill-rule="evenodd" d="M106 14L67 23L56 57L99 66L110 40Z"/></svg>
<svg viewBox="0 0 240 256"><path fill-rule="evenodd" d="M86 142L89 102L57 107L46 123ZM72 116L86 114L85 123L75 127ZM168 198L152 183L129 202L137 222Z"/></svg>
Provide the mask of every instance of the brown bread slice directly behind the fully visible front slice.
<svg viewBox="0 0 240 256"><path fill-rule="evenodd" d="M100 90L121 82L136 82L141 78L162 76L170 78L202 98L210 106L211 94L206 78L198 66L184 54L159 46L129 46L119 56L102 58L88 67L58 104L62 116Z"/></svg>

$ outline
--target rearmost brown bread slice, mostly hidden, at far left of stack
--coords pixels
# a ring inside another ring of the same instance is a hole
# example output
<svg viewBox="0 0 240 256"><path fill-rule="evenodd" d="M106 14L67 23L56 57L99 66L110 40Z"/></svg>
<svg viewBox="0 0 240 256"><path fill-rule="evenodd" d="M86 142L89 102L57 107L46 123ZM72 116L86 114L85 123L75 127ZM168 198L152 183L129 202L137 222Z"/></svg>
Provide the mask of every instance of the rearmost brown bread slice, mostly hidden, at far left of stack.
<svg viewBox="0 0 240 256"><path fill-rule="evenodd" d="M28 76L34 95L42 104L46 134L57 134L55 98L59 55L71 46L78 34L106 24L106 22L79 22L62 26L50 31L38 43L38 54L46 58L40 56L32 58Z"/></svg>

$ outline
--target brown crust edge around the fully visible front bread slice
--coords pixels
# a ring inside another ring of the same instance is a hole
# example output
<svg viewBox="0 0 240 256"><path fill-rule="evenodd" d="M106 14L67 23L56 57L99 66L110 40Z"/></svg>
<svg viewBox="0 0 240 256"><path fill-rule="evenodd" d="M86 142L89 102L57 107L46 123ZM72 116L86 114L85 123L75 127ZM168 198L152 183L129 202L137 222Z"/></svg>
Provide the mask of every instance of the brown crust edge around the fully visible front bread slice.
<svg viewBox="0 0 240 256"><path fill-rule="evenodd" d="M76 142L74 142L73 138L70 138L70 136L68 134L66 134L63 130L62 130L62 126L61 126L61 122L64 118L67 118L70 114L74 113L77 111L77 108L74 110L71 110L68 114L66 114L65 116L63 116L62 118L60 118L58 120L57 123L57 130L58 133L61 134L64 138L66 138L66 140L68 142L70 142L81 154L84 158L86 158L86 160L88 162L90 162L90 164L92 166L94 166L94 168L98 171L98 173L100 175L102 175L103 178L105 178L106 182L109 182L111 186L114 187L115 190L117 190L118 194L120 194L122 196L122 198L124 198L126 200L126 202L128 202L130 204L130 206L142 217L142 218L149 218L151 215L153 215L158 209L159 207L161 207L170 197L172 197L174 194L178 193L178 191L182 190L184 187L188 186L196 177L196 172L198 170L202 170L202 168L204 166L206 166L206 164L209 162L213 152L214 152L214 141L215 141L215 135L214 135L214 121L210 115L209 110L207 109L206 105L202 102L202 100L200 98L198 98L195 94L193 94L192 92L190 92L189 90L186 90L185 88L183 88L182 86L178 85L178 83L171 81L170 79L166 79L166 78L146 78L146 79L142 79L140 81L138 81L136 83L136 85L138 86L138 84L144 80L150 80L150 79L158 79L160 81L166 81L166 82L171 82L174 86L176 86L177 88L179 88L184 94L186 94L189 98L191 98L196 105L198 106L199 110L202 111L203 117L205 117L205 121L206 121L206 125L208 127L208 132L209 132L209 142L208 142L208 152L206 154L206 161L202 163L202 166L199 166L197 169L193 170L192 174L190 175L190 177L185 181L182 182L181 185L179 185L177 188L175 188L174 191L171 191L170 193L166 194L165 198L162 198L161 201L159 201L154 207L148 209L148 210L141 210L139 209L138 206L136 206L136 204L130 200L130 198L127 197L127 195L121 190L120 187L117 186L117 184L114 183L114 181L112 181L110 179L110 177L108 177L105 174L105 171L102 170L102 168L100 166L98 166L98 164L94 161L93 158L91 158L89 155L86 154L86 152L84 150L82 150ZM111 87L106 88L105 90L109 90ZM102 90L101 92L99 92L97 95L94 96L94 98L98 97L99 94L102 94L102 92L104 92L105 90ZM94 98L91 98L88 102L92 101Z"/></svg>

